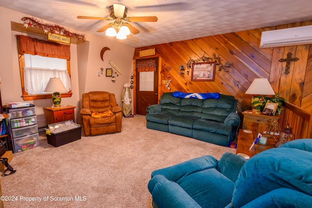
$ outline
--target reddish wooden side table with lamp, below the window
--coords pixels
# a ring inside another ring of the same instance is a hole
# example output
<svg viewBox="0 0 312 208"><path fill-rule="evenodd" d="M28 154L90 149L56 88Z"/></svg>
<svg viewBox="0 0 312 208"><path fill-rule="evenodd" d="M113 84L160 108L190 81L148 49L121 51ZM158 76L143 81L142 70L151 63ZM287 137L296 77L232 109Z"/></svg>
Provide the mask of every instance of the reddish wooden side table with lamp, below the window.
<svg viewBox="0 0 312 208"><path fill-rule="evenodd" d="M76 106L67 105L61 107L45 107L46 124L53 124L67 120L75 122L75 108Z"/></svg>

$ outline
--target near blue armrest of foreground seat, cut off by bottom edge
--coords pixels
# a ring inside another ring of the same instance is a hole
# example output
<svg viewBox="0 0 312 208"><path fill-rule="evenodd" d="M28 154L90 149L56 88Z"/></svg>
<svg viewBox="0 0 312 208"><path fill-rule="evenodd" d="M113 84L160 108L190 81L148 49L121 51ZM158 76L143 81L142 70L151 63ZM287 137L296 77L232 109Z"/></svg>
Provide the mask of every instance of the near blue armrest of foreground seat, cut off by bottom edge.
<svg viewBox="0 0 312 208"><path fill-rule="evenodd" d="M158 208L201 208L185 190L169 180L159 181L152 197Z"/></svg>

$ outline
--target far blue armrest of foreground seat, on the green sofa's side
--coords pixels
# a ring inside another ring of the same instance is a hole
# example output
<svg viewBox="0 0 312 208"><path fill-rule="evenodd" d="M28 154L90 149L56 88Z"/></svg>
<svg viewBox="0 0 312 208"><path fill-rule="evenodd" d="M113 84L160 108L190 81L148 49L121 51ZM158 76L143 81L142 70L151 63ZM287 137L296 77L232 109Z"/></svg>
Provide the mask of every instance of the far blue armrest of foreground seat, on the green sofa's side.
<svg viewBox="0 0 312 208"><path fill-rule="evenodd" d="M190 175L194 172L216 168L218 161L211 155L197 157L174 166L154 170L152 177L156 175L163 175L170 181L177 181L180 178Z"/></svg>

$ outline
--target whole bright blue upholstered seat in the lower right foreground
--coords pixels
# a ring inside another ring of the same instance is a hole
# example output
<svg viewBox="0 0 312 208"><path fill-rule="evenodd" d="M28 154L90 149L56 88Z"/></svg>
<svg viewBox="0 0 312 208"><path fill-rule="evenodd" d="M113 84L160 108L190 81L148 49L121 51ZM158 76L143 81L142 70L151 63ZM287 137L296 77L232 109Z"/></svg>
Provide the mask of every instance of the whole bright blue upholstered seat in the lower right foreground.
<svg viewBox="0 0 312 208"><path fill-rule="evenodd" d="M297 139L250 160L226 152L155 170L154 208L308 208L312 139Z"/></svg>

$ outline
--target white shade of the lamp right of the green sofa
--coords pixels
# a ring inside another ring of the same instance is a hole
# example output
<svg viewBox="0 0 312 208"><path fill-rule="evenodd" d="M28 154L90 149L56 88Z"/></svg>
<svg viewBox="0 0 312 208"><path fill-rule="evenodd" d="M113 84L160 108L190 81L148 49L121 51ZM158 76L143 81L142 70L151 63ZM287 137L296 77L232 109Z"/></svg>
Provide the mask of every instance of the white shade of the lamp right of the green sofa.
<svg viewBox="0 0 312 208"><path fill-rule="evenodd" d="M255 78L245 94L249 95L275 95L267 78Z"/></svg>

